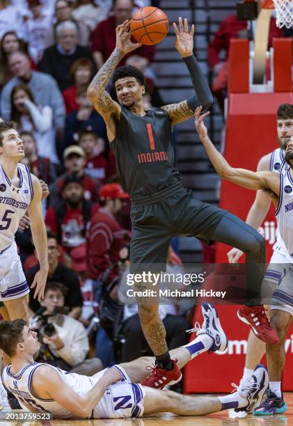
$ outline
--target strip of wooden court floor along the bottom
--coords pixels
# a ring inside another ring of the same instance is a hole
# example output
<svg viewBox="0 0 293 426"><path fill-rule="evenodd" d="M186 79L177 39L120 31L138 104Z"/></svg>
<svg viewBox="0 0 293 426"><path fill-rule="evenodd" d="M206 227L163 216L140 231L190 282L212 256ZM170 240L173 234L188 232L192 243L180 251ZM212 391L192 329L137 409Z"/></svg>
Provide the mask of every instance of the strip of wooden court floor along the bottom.
<svg viewBox="0 0 293 426"><path fill-rule="evenodd" d="M169 413L160 415L143 417L143 418L124 418L118 420L51 420L42 422L5 422L0 420L0 425L3 426L293 426L293 393L285 393L285 400L289 409L284 414L276 416L247 416L246 418L228 418L227 411L210 414L204 417L179 417ZM196 397L196 396L195 396Z"/></svg>

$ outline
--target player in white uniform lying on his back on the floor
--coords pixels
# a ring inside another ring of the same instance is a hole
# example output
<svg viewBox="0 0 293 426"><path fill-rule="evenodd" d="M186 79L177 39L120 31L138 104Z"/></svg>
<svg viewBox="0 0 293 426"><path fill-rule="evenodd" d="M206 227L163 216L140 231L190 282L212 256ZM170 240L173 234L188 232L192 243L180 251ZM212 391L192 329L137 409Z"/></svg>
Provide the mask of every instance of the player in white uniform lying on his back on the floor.
<svg viewBox="0 0 293 426"><path fill-rule="evenodd" d="M212 305L203 303L204 322L188 345L171 351L179 368L206 351L223 351L227 338ZM146 367L155 358L138 358L114 365L92 377L72 374L33 361L40 343L22 319L0 324L0 347L12 363L4 368L6 388L30 411L47 411L55 418L141 417L169 411L180 416L203 416L236 408L247 413L260 405L268 386L267 370L258 365L253 376L237 392L223 397L191 397L171 390L142 386Z"/></svg>

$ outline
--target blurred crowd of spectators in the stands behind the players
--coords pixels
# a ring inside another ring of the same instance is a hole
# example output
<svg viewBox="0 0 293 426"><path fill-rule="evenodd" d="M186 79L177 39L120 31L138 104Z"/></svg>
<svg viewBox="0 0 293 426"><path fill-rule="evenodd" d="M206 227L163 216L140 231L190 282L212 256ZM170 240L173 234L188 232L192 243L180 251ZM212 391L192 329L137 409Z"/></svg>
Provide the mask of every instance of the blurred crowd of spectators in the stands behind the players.
<svg viewBox="0 0 293 426"><path fill-rule="evenodd" d="M43 201L49 251L45 299L30 300L33 324L47 336L40 359L81 374L150 353L136 307L118 304L117 283L129 264L130 203L104 120L86 95L115 47L116 26L150 5L159 1L0 0L0 116L15 122L24 142L22 161L50 193ZM229 42L244 31L246 23L230 17L209 45L221 107ZM280 35L273 22L271 36ZM155 47L143 45L119 64L145 73L145 109L164 104L151 68L154 56ZM115 96L111 86L108 90ZM29 228L19 230L16 241L31 285L38 260ZM180 269L171 247L169 263ZM190 308L160 308L170 349L188 340ZM44 332L49 324L51 337Z"/></svg>

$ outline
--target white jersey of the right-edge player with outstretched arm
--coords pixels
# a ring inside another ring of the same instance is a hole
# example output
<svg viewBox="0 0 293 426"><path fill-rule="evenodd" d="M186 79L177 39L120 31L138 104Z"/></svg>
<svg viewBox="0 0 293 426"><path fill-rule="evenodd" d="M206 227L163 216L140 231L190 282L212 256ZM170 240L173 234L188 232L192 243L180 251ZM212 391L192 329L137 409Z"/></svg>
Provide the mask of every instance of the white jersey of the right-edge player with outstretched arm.
<svg viewBox="0 0 293 426"><path fill-rule="evenodd" d="M290 256L293 256L293 179L290 168L280 174L280 198L275 215L280 236Z"/></svg>

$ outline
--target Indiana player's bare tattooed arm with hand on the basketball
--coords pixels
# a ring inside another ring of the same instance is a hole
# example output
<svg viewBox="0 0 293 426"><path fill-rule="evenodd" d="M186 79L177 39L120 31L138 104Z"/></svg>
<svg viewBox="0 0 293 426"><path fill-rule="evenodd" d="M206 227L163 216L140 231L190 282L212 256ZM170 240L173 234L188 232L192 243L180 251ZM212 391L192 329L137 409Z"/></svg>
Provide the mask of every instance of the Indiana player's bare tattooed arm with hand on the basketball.
<svg viewBox="0 0 293 426"><path fill-rule="evenodd" d="M116 120L120 118L121 107L106 92L106 86L123 56L141 46L141 43L130 41L129 26L130 22L125 21L116 27L116 48L88 86L88 97L106 122L109 141L113 141L116 136Z"/></svg>

